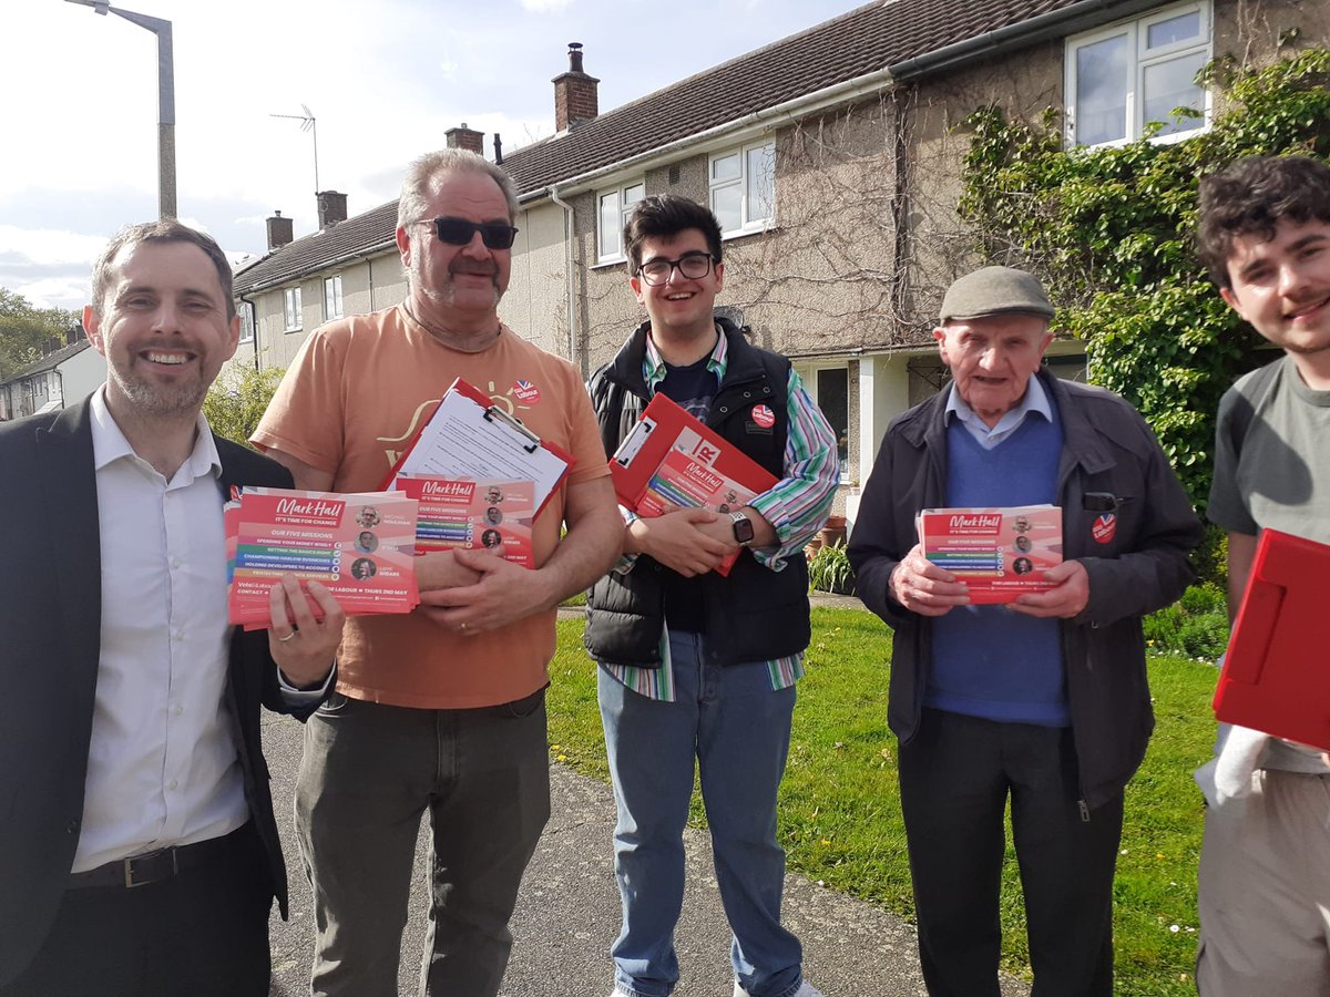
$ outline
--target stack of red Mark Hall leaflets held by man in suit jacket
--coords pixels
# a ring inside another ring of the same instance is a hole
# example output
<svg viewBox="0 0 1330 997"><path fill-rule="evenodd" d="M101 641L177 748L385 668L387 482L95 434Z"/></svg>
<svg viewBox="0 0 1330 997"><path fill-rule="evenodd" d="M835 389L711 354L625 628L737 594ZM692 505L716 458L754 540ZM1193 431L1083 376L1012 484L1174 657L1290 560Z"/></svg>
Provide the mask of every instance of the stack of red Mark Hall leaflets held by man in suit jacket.
<svg viewBox="0 0 1330 997"><path fill-rule="evenodd" d="M226 534L233 623L266 627L269 590L283 574L323 584L347 615L420 602L416 501L400 492L246 488L226 510Z"/></svg>

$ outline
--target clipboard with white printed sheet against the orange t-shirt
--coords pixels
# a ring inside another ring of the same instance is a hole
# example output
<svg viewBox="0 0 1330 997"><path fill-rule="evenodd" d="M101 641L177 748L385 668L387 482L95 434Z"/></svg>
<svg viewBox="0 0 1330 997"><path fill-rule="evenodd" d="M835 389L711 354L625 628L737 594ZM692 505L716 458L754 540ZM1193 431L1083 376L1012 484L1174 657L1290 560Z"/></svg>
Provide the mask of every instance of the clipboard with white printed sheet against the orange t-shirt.
<svg viewBox="0 0 1330 997"><path fill-rule="evenodd" d="M398 476L509 480L535 484L536 516L564 483L575 460L493 404L462 378L452 382L383 481Z"/></svg>

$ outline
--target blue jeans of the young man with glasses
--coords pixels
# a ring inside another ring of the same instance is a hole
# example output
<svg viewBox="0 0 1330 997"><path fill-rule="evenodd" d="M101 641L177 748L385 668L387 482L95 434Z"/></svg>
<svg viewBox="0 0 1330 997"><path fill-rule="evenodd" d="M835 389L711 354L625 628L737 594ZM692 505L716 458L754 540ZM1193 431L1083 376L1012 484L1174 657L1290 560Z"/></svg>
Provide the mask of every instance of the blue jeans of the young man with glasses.
<svg viewBox="0 0 1330 997"><path fill-rule="evenodd" d="M676 702L648 699L600 670L600 715L614 779L614 875L624 927L614 982L666 997L678 982L674 925L684 904L684 826L693 759L716 877L734 939L734 974L754 997L799 988L803 950L781 927L785 851L775 794L790 748L794 687L773 690L761 662L706 663L705 638L670 634Z"/></svg>

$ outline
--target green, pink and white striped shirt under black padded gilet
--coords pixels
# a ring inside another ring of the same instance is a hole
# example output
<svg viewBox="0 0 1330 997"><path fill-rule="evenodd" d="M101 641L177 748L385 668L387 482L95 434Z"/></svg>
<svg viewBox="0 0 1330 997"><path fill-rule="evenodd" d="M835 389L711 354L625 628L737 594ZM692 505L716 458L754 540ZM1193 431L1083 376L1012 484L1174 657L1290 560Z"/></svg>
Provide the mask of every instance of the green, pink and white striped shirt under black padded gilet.
<svg viewBox="0 0 1330 997"><path fill-rule="evenodd" d="M725 380L725 367L729 346L724 335L716 339L716 350L706 368L716 374L717 383ZM642 358L642 376L652 393L665 380L666 367L650 336L646 336L646 354ZM786 411L789 412L789 433L785 440L785 477L769 491L755 496L749 505L762 513L762 518L775 528L779 546L750 548L758 564L773 572L785 570L790 557L803 557L805 545L822 529L831 500L841 483L841 460L837 455L837 439L826 416L809 397L799 375L790 368L786 384ZM705 413L700 416L705 419ZM625 520L633 514L622 510ZM625 554L616 572L626 574L633 569L636 554ZM670 669L669 631L661 630L661 663L654 669L634 665L614 665L601 662L610 675L649 699L674 702L674 678ZM791 654L766 662L771 677L771 689L786 689L803 677L803 654Z"/></svg>

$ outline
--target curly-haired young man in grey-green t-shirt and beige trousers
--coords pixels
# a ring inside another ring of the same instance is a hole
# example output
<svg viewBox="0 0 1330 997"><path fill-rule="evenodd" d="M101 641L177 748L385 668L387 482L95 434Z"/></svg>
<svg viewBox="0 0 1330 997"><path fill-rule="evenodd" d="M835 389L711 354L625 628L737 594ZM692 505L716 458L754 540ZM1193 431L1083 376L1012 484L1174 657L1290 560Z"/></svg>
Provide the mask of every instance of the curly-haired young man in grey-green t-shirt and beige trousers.
<svg viewBox="0 0 1330 997"><path fill-rule="evenodd" d="M1330 544L1330 167L1248 157L1205 178L1200 247L1224 300L1283 350L1220 403L1209 518L1228 530L1232 618L1262 529ZM1330 759L1225 728L1198 782L1200 992L1326 997Z"/></svg>

